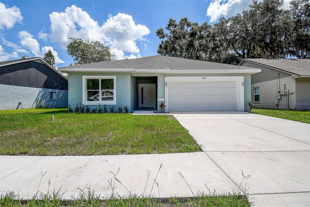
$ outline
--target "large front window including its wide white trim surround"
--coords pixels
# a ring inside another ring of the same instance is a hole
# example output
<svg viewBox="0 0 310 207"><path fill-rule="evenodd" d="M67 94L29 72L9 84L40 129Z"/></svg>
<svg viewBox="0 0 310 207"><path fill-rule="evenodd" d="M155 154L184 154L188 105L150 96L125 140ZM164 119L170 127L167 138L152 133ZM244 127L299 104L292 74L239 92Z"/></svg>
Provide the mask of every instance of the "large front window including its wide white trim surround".
<svg viewBox="0 0 310 207"><path fill-rule="evenodd" d="M116 76L83 76L83 104L116 104Z"/></svg>

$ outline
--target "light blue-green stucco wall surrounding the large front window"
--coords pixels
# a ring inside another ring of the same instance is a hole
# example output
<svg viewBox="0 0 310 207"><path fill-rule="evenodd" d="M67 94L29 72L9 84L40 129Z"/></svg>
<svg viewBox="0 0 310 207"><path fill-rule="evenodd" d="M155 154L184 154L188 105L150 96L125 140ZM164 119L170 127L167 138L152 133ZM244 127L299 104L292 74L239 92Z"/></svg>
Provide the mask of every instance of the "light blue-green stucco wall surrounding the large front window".
<svg viewBox="0 0 310 207"><path fill-rule="evenodd" d="M128 109L131 109L131 91L130 91L130 82L131 77L130 73L69 73L68 74L68 91L69 91L69 104L71 108L74 110L74 107L77 104L82 104L82 76L83 75L91 75L91 76L116 76L116 105L108 105L107 108L109 111L110 106L115 106L114 111L117 111L118 106L128 106ZM102 105L101 105L102 106ZM90 110L98 107L98 105L89 105Z"/></svg>

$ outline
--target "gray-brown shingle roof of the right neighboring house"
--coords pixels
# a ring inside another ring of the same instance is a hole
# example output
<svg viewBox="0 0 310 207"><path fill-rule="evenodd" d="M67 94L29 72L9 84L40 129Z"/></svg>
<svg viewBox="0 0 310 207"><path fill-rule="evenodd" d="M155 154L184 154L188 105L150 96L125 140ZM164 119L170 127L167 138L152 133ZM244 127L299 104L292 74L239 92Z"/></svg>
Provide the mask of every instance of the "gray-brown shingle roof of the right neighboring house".
<svg viewBox="0 0 310 207"><path fill-rule="evenodd" d="M310 59L289 59L289 58L245 58L244 61L251 61L262 65L284 70L296 75L310 75Z"/></svg>

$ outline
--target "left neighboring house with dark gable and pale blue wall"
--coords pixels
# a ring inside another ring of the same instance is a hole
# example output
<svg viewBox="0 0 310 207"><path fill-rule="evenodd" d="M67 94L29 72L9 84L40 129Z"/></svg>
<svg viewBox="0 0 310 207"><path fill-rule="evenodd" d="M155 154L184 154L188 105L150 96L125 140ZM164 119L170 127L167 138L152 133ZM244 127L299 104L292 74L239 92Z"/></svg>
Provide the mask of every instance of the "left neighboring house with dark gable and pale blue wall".
<svg viewBox="0 0 310 207"><path fill-rule="evenodd" d="M40 57L0 62L0 110L68 107L68 80Z"/></svg>

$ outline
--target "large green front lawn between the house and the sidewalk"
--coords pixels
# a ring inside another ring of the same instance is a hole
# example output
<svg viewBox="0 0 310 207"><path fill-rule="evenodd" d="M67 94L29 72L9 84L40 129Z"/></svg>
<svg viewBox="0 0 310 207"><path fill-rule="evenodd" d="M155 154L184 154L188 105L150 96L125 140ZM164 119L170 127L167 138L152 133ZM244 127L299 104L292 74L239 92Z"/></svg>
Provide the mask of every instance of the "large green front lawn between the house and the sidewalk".
<svg viewBox="0 0 310 207"><path fill-rule="evenodd" d="M0 111L1 155L121 155L200 151L169 115ZM52 122L52 114L55 122Z"/></svg>

